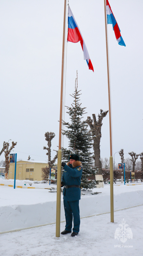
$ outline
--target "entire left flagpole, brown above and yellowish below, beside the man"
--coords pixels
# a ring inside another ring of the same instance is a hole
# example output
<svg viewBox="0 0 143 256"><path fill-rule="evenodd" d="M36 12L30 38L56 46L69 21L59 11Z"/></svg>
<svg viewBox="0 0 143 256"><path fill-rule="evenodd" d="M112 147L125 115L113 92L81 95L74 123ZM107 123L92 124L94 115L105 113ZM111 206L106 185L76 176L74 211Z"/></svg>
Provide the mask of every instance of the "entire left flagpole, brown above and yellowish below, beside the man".
<svg viewBox="0 0 143 256"><path fill-rule="evenodd" d="M62 64L61 64L61 101L60 101L58 169L57 169L56 237L60 237L60 217L61 217L61 125L62 125L62 105L63 105L62 103L63 103L64 49L65 49L65 22L66 22L66 0L64 4L64 24L63 24Z"/></svg>

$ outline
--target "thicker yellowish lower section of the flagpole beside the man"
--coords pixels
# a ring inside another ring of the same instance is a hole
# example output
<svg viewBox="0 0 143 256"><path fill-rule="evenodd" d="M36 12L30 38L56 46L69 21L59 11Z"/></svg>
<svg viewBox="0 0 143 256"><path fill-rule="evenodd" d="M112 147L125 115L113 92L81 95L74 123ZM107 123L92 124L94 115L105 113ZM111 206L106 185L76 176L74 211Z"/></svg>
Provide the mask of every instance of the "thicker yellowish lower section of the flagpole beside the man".
<svg viewBox="0 0 143 256"><path fill-rule="evenodd" d="M61 218L61 149L58 150L56 237L60 237L60 218Z"/></svg>

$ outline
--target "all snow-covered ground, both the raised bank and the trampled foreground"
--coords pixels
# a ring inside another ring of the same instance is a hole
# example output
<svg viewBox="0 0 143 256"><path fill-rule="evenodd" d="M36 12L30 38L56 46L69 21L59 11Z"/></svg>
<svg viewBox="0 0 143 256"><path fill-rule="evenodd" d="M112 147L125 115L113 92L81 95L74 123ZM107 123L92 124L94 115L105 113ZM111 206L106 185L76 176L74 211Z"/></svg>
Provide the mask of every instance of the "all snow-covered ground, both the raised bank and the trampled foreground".
<svg viewBox="0 0 143 256"><path fill-rule="evenodd" d="M26 182L26 186L30 186ZM0 179L0 183L13 185L13 180ZM16 181L19 186L25 186L24 183L25 181ZM97 195L82 195L80 216L87 218L81 219L79 235L71 237L67 234L59 238L55 237L55 224L50 224L55 222L56 217L56 193L43 189L55 188L56 185L32 182L31 187L35 189L0 186L0 255L142 255L143 183L134 184L114 184L114 223L110 222L110 213L106 213L110 212L110 184L93 189L94 192L101 192ZM125 209L128 207L132 208ZM91 215L95 216L88 218ZM119 228L123 219L133 235L125 243L114 238L116 228ZM64 220L61 195L61 221ZM45 224L50 225L3 233ZM64 228L65 222L62 222L61 231Z"/></svg>

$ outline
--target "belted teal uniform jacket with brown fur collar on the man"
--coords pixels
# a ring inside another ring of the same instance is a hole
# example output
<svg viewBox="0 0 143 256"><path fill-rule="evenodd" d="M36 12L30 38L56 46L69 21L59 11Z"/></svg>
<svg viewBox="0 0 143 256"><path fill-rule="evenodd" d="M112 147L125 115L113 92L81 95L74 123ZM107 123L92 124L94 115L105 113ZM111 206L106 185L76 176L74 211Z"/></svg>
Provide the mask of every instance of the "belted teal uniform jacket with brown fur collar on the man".
<svg viewBox="0 0 143 256"><path fill-rule="evenodd" d="M62 175L62 185L79 185L81 184L82 177L82 167L80 161L75 161L72 164L66 164L64 172ZM80 188L64 188L63 189L63 199L65 201L76 201L81 199L81 190Z"/></svg>

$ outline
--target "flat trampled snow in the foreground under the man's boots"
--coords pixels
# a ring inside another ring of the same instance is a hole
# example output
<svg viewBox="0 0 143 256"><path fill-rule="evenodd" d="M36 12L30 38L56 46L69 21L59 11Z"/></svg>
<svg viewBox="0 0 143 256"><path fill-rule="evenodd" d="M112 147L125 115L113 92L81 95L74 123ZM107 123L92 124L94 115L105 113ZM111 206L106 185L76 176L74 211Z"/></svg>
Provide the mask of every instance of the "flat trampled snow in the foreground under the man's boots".
<svg viewBox="0 0 143 256"><path fill-rule="evenodd" d="M136 256L142 255L143 206L110 214L81 219L77 237L70 234L55 237L55 224L0 235L0 255L4 256ZM125 243L114 238L116 228L125 219L132 239ZM61 223L61 231L65 222Z"/></svg>

